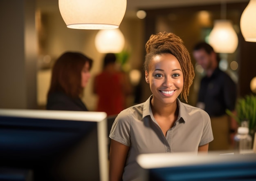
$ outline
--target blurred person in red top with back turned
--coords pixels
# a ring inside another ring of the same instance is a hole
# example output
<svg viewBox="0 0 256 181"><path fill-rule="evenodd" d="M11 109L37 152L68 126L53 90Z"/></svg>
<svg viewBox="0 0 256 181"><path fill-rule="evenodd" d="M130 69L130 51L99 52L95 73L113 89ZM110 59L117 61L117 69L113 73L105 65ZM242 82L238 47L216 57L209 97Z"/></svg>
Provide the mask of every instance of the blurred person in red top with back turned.
<svg viewBox="0 0 256 181"><path fill-rule="evenodd" d="M98 95L96 111L117 115L126 108L132 87L128 76L117 69L115 54L108 53L103 60L103 71L94 78L93 91Z"/></svg>

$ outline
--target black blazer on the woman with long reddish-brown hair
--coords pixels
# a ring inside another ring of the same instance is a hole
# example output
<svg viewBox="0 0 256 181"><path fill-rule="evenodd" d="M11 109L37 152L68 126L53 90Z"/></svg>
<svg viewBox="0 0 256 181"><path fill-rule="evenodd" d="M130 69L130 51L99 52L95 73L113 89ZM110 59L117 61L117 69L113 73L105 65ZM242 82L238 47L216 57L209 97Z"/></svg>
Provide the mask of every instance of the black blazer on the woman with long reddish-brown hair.
<svg viewBox="0 0 256 181"><path fill-rule="evenodd" d="M46 109L65 111L88 111L80 98L71 98L63 92L54 92L47 98Z"/></svg>

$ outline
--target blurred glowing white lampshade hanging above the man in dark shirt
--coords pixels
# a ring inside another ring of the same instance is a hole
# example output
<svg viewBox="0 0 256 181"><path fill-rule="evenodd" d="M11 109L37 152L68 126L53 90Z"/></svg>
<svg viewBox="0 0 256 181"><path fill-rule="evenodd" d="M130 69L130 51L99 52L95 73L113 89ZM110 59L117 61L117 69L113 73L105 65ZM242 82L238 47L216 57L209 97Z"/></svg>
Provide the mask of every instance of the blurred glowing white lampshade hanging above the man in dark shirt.
<svg viewBox="0 0 256 181"><path fill-rule="evenodd" d="M218 53L234 53L238 46L238 36L231 21L215 20L209 35L209 44Z"/></svg>

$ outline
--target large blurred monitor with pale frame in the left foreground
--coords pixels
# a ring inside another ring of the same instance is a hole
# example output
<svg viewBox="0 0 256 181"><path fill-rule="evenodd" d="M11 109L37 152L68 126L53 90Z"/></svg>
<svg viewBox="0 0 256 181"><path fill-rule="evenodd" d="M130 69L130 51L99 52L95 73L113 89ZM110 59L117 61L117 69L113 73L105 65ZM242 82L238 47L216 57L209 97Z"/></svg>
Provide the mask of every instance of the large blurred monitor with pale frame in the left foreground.
<svg viewBox="0 0 256 181"><path fill-rule="evenodd" d="M105 112L0 109L0 168L31 170L34 181L108 181L106 121Z"/></svg>

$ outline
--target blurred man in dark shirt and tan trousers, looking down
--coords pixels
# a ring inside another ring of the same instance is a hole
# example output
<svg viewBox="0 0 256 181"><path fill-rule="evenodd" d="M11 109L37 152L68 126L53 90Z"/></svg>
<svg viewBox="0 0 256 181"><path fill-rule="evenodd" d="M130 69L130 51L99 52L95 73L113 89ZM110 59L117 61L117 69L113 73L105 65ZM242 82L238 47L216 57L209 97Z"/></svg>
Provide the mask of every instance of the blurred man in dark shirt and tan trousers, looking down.
<svg viewBox="0 0 256 181"><path fill-rule="evenodd" d="M214 140L209 143L209 150L228 150L231 148L237 124L226 114L226 109L234 112L236 84L228 74L219 69L220 57L211 45L199 42L193 48L193 56L205 71L196 106L204 109L211 117Z"/></svg>

